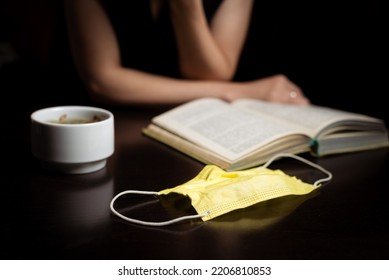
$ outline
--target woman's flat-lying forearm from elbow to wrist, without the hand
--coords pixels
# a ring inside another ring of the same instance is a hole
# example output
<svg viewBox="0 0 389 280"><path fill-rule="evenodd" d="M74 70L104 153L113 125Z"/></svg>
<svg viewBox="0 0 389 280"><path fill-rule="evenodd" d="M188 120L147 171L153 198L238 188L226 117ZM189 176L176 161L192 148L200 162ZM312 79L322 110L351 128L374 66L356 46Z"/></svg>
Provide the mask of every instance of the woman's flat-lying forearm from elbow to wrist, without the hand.
<svg viewBox="0 0 389 280"><path fill-rule="evenodd" d="M117 67L84 79L92 99L122 105L177 104L200 97L225 99L230 83L182 80Z"/></svg>

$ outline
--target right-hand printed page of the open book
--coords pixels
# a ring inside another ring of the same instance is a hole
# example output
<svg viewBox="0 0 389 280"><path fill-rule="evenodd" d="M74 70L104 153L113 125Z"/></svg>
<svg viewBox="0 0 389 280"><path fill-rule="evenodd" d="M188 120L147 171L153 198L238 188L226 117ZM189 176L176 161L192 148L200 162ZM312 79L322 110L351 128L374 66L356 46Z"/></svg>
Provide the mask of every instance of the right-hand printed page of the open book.
<svg viewBox="0 0 389 280"><path fill-rule="evenodd" d="M273 116L283 119L292 126L300 127L300 129L310 135L311 138L315 138L324 128L339 121L380 122L377 119L365 115L316 105L291 105L254 99L237 100L234 102L234 105L260 114L261 116Z"/></svg>

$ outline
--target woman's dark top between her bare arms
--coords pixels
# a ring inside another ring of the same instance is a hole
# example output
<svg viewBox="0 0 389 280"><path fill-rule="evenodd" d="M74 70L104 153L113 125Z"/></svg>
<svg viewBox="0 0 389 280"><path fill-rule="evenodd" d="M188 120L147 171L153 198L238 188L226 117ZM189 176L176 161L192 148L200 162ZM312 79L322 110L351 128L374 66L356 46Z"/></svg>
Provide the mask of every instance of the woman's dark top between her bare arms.
<svg viewBox="0 0 389 280"><path fill-rule="evenodd" d="M221 0L204 0L208 20ZM165 3L157 19L147 0L102 0L115 29L122 64L148 73L180 77L177 48L169 7Z"/></svg>

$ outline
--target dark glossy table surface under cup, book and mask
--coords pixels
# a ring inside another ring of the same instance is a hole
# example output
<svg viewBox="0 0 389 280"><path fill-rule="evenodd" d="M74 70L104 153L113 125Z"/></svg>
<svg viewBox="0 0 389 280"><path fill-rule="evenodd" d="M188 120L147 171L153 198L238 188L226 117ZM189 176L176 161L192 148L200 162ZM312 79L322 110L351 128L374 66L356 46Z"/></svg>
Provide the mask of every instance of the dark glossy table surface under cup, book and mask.
<svg viewBox="0 0 389 280"><path fill-rule="evenodd" d="M109 209L123 190L162 190L193 178L203 164L141 134L162 109L113 108L116 146L105 169L86 175L43 170L29 147L29 114L2 132L2 259L388 259L387 149L321 159L333 173L308 196L293 196L202 222L153 228L126 223ZM281 168L303 180L322 174L293 160ZM145 202L145 203L144 203ZM143 207L135 207L141 203ZM187 201L168 208L131 196L117 207L133 217L194 213Z"/></svg>

